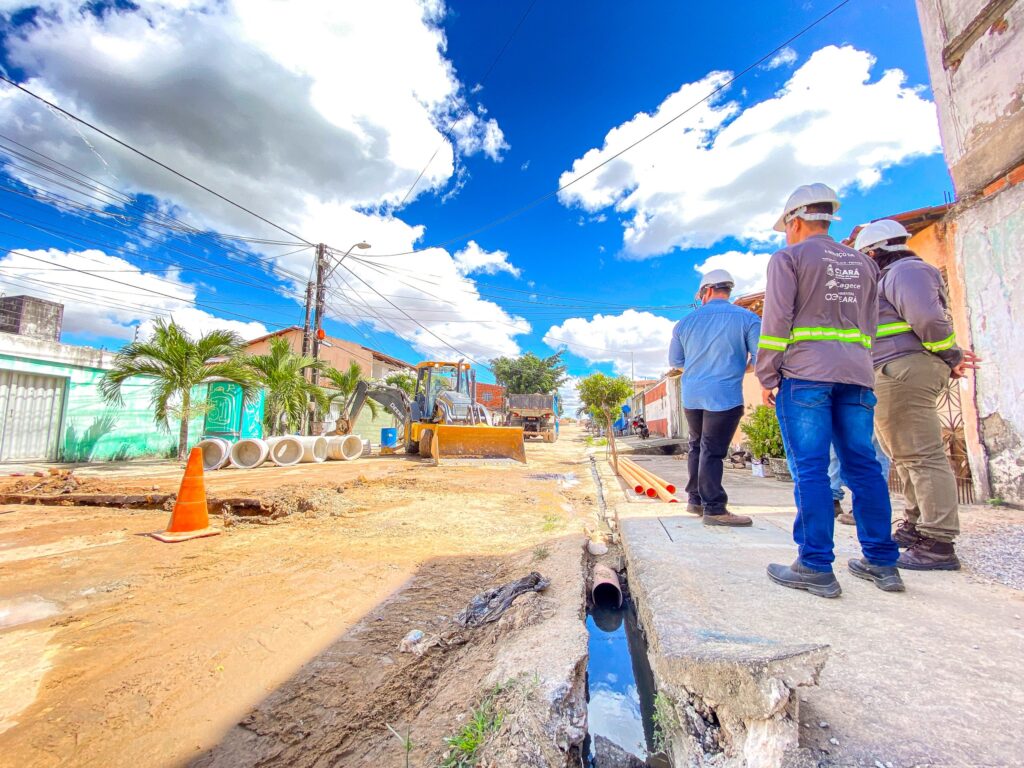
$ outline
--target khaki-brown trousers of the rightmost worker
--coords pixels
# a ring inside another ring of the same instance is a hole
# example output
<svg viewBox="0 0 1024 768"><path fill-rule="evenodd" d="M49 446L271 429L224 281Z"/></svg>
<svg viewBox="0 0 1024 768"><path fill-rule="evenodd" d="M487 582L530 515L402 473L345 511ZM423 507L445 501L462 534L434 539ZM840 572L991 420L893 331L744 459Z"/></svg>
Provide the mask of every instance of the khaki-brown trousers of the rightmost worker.
<svg viewBox="0 0 1024 768"><path fill-rule="evenodd" d="M959 534L956 478L942 443L936 400L949 384L949 366L914 352L874 372L874 431L903 481L906 519L930 539Z"/></svg>

